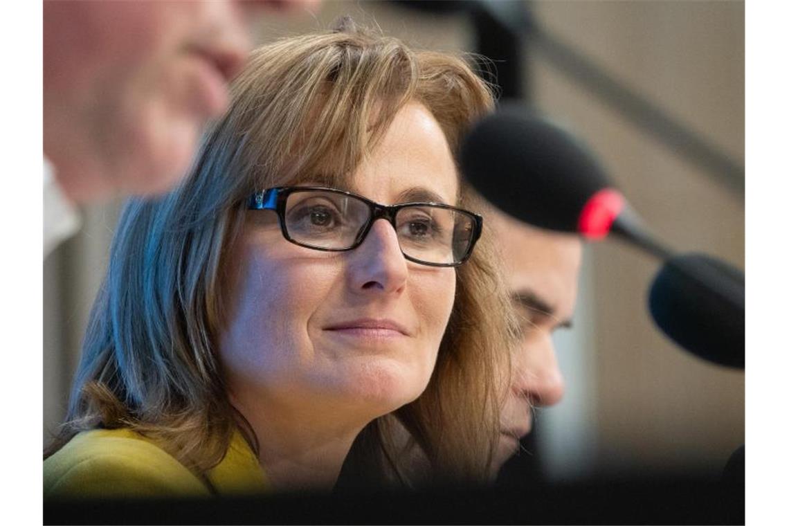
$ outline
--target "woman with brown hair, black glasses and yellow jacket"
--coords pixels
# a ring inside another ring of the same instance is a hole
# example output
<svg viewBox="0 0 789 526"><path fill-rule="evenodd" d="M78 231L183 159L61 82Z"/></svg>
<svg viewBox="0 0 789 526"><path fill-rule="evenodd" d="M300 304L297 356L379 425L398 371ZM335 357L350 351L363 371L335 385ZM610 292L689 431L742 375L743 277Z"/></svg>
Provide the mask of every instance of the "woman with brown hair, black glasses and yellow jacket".
<svg viewBox="0 0 789 526"><path fill-rule="evenodd" d="M492 97L343 26L256 50L191 176L125 208L45 495L331 487L357 435L407 483L393 419L488 475L513 341L454 159Z"/></svg>

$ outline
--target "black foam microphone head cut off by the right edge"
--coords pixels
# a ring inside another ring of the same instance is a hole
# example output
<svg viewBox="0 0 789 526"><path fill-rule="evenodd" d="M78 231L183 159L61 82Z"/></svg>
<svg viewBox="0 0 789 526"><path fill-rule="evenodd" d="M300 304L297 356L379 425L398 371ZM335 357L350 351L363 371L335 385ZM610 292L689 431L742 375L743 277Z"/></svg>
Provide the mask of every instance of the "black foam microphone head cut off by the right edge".
<svg viewBox="0 0 789 526"><path fill-rule="evenodd" d="M649 290L657 326L683 349L728 367L745 367L745 276L709 256L674 256Z"/></svg>

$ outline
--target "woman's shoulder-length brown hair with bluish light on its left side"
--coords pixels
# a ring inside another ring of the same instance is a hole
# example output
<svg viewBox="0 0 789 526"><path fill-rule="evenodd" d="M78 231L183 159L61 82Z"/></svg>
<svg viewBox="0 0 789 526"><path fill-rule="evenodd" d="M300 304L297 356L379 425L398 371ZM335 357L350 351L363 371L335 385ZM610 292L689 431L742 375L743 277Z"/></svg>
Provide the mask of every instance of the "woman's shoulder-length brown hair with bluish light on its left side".
<svg viewBox="0 0 789 526"><path fill-rule="evenodd" d="M222 459L239 423L255 444L227 399L215 357L226 304L222 263L250 194L314 173L347 177L409 101L432 112L455 157L463 132L492 110L490 89L461 58L410 50L343 24L255 50L190 177L159 200L127 204L67 421L50 454L79 431L131 427L204 472ZM473 208L470 201L461 185L458 205ZM371 459L370 466L388 459L402 472L387 433L387 420L397 418L433 475L488 476L514 343L493 259L483 235L457 269L454 307L427 389L365 428L357 458Z"/></svg>

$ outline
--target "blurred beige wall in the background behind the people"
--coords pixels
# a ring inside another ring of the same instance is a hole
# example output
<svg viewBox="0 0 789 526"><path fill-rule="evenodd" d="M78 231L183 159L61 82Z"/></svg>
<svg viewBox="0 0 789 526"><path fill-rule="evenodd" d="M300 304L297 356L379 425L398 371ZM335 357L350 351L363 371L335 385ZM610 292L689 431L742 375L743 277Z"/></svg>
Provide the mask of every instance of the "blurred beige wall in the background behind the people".
<svg viewBox="0 0 789 526"><path fill-rule="evenodd" d="M743 2L535 2L536 20L744 164ZM270 17L260 42L327 28L350 14L418 47L473 50L462 15L387 2L325 2L314 16ZM533 103L589 143L654 232L679 250L744 268L744 200L529 54ZM44 441L62 418L119 203L44 263ZM615 242L585 248L574 330L559 335L567 396L538 414L556 478L590 472L714 470L745 442L742 371L697 360L654 327L646 293L658 265Z"/></svg>

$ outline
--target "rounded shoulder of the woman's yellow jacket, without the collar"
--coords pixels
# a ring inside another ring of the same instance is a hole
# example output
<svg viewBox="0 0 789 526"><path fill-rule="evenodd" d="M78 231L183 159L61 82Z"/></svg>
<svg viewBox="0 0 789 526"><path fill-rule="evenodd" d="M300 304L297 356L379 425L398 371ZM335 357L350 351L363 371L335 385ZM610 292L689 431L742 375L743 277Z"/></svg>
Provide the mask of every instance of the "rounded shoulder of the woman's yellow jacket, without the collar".
<svg viewBox="0 0 789 526"><path fill-rule="evenodd" d="M44 461L45 498L207 494L193 472L128 429L84 431Z"/></svg>

